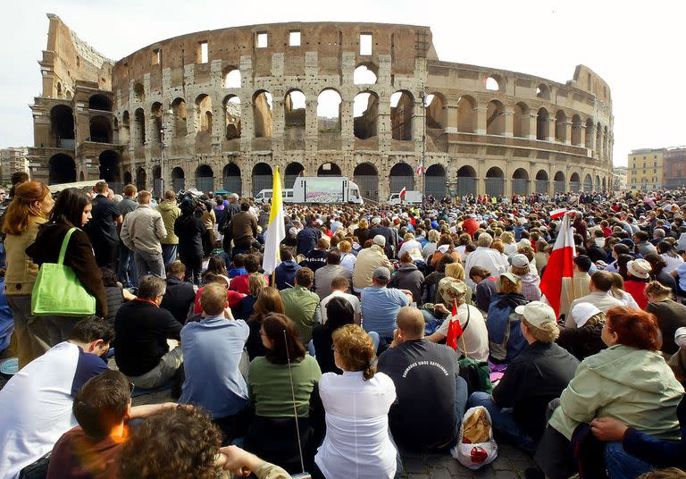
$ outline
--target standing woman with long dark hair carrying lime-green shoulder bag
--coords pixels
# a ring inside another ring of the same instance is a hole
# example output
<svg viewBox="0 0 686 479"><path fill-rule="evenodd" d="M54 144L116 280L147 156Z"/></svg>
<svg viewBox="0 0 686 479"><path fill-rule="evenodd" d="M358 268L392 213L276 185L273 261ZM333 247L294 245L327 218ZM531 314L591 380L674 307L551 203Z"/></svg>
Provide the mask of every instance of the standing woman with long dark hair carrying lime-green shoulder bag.
<svg viewBox="0 0 686 479"><path fill-rule="evenodd" d="M83 287L96 297L96 316L105 317L107 292L96 264L96 256L93 255L93 246L88 240L88 235L81 231L91 218L92 208L88 194L82 189L63 189L54 202L50 222L40 227L36 241L26 249L26 254L31 256L37 265L57 263L67 232L71 228L76 228L67 246L64 265L70 266ZM80 319L82 318L45 316L51 346L67 340L71 328Z"/></svg>

